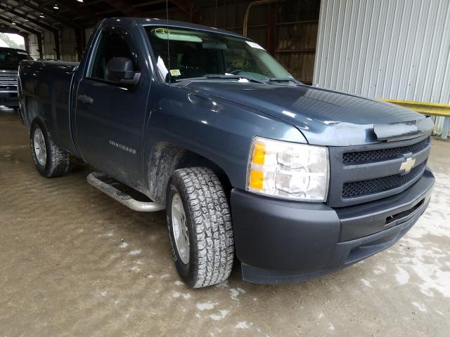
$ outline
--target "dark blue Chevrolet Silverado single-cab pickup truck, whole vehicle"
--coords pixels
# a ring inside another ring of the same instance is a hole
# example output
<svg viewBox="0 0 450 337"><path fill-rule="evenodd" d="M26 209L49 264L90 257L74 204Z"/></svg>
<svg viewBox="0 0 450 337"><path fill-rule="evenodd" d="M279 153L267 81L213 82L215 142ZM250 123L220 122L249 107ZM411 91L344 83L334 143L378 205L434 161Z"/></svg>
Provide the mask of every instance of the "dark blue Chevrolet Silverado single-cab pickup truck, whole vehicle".
<svg viewBox="0 0 450 337"><path fill-rule="evenodd" d="M18 84L39 173L63 176L74 155L122 204L165 209L192 288L234 260L255 283L339 270L392 246L430 202L430 118L304 85L232 32L109 18L79 64L22 61Z"/></svg>

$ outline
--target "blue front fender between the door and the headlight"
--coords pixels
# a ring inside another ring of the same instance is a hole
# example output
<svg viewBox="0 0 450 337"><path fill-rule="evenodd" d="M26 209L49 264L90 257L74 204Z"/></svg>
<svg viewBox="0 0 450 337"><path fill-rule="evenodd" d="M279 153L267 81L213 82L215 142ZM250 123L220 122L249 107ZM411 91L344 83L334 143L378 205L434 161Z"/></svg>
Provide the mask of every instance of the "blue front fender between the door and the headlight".
<svg viewBox="0 0 450 337"><path fill-rule="evenodd" d="M151 108L146 125L144 176L155 145L164 142L209 159L226 173L233 187L245 189L253 137L307 143L294 126L250 107L179 86L153 88L150 101L160 99Z"/></svg>

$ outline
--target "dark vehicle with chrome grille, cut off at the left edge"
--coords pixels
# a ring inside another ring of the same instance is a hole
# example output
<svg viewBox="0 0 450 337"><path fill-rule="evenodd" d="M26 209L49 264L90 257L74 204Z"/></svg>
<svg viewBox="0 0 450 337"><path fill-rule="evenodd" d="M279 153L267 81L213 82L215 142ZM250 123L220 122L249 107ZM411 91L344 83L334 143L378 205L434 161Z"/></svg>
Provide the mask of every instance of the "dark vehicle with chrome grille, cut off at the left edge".
<svg viewBox="0 0 450 337"><path fill-rule="evenodd" d="M19 106L17 71L21 60L32 60L26 51L0 47L0 107Z"/></svg>

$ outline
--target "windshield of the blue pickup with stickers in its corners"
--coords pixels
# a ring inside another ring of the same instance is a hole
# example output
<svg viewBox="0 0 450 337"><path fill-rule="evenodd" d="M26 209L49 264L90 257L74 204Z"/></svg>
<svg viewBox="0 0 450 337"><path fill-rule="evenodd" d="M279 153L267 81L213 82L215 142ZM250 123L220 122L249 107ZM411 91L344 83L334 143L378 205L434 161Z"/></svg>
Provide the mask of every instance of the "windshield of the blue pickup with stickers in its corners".
<svg viewBox="0 0 450 337"><path fill-rule="evenodd" d="M229 79L236 81L239 76L259 80L293 79L283 66L255 42L195 29L145 28L158 70L166 81L208 75L224 75L214 77L217 79L227 79L226 76L229 76Z"/></svg>

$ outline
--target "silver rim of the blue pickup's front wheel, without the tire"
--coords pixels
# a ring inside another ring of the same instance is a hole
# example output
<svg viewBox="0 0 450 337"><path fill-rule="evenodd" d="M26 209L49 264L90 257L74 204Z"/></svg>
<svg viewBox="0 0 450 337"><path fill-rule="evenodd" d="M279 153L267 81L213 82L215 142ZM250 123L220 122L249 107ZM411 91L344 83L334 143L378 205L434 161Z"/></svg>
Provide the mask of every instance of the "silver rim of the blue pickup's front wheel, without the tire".
<svg viewBox="0 0 450 337"><path fill-rule="evenodd" d="M189 263L189 234L186 225L186 213L178 193L175 193L172 197L172 230L176 251L178 251L181 262L187 265Z"/></svg>

